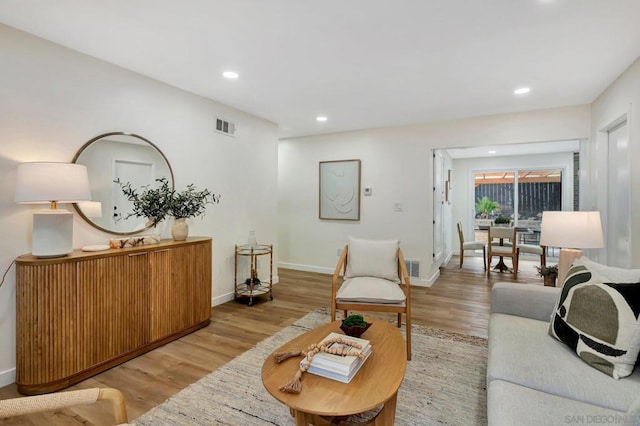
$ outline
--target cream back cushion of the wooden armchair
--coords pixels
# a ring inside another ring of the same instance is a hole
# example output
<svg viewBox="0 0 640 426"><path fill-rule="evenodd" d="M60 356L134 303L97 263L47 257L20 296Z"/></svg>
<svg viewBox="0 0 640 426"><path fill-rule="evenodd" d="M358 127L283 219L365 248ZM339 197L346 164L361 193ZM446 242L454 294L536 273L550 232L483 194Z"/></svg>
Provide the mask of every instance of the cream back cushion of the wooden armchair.
<svg viewBox="0 0 640 426"><path fill-rule="evenodd" d="M398 240L349 237L346 278L377 277L398 281Z"/></svg>

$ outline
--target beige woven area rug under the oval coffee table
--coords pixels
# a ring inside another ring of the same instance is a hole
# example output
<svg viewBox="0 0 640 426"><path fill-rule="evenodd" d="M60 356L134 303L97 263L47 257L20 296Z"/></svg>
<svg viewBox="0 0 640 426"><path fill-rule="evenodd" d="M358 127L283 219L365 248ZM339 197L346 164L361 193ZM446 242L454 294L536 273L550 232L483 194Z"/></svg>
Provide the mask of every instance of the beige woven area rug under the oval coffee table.
<svg viewBox="0 0 640 426"><path fill-rule="evenodd" d="M284 343L327 322L323 309L305 315L133 423L293 425L289 409L262 386L262 363ZM486 340L429 327L412 330L413 359L398 392L396 424L486 424Z"/></svg>

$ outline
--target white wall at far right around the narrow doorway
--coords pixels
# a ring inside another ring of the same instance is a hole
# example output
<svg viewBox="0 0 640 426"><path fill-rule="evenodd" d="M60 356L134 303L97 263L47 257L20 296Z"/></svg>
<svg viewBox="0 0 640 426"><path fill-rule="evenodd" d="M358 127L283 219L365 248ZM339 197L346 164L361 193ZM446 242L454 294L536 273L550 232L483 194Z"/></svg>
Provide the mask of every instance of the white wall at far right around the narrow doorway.
<svg viewBox="0 0 640 426"><path fill-rule="evenodd" d="M631 266L640 268L640 169L636 166L640 158L640 58L629 66L591 105L591 140L589 181L597 187L607 176L607 138L601 129L622 115L627 115L629 129L629 161L631 162ZM585 207L605 211L607 208L606 187L598 187Z"/></svg>

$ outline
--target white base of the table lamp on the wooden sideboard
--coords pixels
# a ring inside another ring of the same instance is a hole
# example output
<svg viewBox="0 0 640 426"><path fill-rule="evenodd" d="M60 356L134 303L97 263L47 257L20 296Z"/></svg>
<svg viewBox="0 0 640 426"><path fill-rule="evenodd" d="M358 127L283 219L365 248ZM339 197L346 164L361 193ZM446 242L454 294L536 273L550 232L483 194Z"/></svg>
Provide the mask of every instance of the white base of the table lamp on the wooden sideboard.
<svg viewBox="0 0 640 426"><path fill-rule="evenodd" d="M62 257L73 251L73 213L40 210L33 213L33 247L36 257Z"/></svg>

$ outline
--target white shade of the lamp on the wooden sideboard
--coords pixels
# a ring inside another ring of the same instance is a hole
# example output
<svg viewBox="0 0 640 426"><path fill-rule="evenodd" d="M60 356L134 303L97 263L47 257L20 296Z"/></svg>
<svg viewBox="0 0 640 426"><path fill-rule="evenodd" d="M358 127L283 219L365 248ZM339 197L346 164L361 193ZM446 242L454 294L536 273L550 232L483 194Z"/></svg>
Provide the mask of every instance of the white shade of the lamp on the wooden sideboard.
<svg viewBox="0 0 640 426"><path fill-rule="evenodd" d="M75 203L89 200L89 176L87 168L81 164L36 162L18 165L16 203Z"/></svg>

